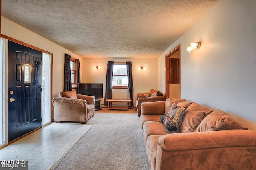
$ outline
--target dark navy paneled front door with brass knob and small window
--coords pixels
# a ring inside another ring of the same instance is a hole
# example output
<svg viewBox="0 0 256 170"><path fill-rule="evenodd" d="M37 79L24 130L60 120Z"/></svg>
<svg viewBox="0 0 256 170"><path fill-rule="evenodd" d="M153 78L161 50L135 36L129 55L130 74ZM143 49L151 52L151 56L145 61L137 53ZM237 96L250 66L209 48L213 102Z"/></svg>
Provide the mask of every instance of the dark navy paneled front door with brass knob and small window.
<svg viewBox="0 0 256 170"><path fill-rule="evenodd" d="M8 141L41 127L42 52L8 41Z"/></svg>

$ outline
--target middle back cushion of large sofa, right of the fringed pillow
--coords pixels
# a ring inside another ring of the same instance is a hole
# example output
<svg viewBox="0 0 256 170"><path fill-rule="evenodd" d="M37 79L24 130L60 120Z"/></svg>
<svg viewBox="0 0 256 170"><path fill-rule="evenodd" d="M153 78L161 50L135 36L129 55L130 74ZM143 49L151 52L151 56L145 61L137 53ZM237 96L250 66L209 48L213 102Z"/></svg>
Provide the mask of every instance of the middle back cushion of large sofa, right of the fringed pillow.
<svg viewBox="0 0 256 170"><path fill-rule="evenodd" d="M201 121L214 110L201 106L198 103L192 103L187 108L186 116L180 126L181 132L194 132Z"/></svg>

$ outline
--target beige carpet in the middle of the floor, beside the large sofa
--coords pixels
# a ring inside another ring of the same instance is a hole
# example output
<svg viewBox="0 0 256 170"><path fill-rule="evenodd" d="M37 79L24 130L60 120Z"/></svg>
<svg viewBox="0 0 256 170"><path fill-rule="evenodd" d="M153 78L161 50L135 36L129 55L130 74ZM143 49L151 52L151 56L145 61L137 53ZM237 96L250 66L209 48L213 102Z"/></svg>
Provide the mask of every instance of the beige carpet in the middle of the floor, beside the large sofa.
<svg viewBox="0 0 256 170"><path fill-rule="evenodd" d="M54 170L149 170L136 109L96 111L91 129Z"/></svg>

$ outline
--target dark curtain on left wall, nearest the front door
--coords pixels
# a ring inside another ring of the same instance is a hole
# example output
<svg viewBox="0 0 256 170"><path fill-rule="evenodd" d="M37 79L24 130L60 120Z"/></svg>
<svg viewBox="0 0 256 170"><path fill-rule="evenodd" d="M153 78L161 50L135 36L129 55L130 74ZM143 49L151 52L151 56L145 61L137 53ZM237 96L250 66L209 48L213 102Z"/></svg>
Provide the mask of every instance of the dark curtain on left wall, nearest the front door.
<svg viewBox="0 0 256 170"><path fill-rule="evenodd" d="M71 71L70 71L70 59L71 55L65 54L65 65L64 65L64 89L63 91L71 91Z"/></svg>

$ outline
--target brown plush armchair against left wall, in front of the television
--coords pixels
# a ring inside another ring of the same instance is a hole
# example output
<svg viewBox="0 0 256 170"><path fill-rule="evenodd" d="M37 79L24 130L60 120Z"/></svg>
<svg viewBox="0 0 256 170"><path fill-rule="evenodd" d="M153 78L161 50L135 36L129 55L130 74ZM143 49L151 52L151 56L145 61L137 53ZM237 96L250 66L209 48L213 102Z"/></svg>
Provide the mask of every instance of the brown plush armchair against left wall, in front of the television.
<svg viewBox="0 0 256 170"><path fill-rule="evenodd" d="M95 113L95 97L76 94L76 91L60 92L52 100L54 121L74 121L86 123Z"/></svg>

